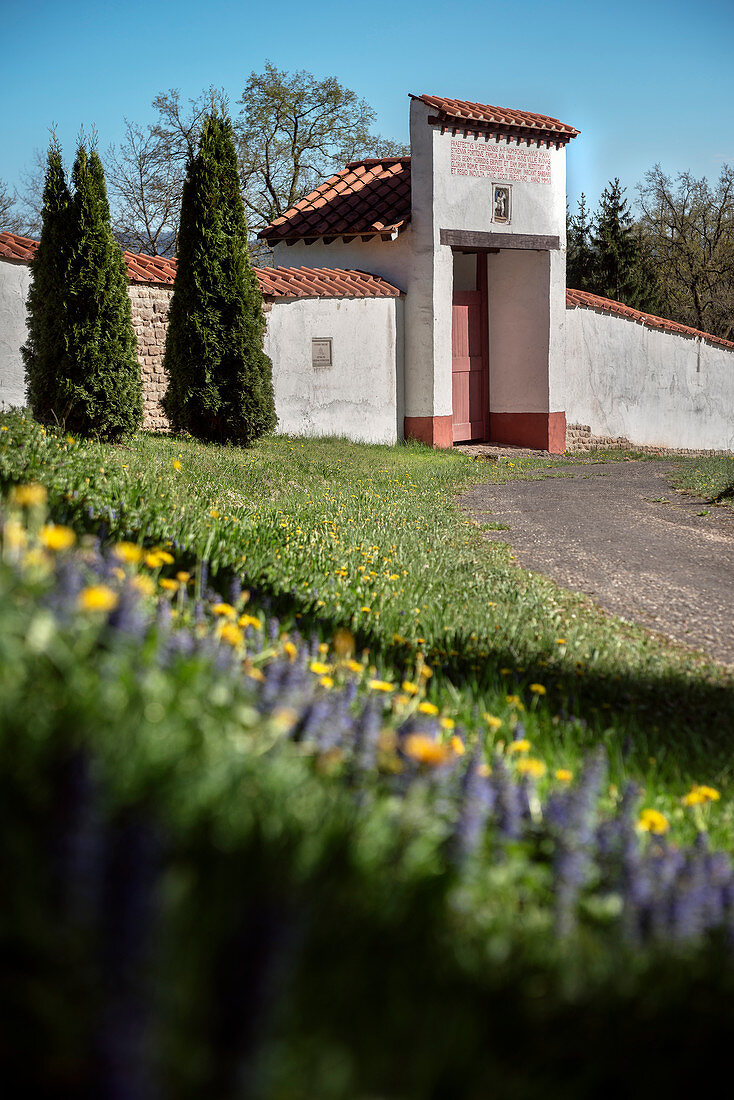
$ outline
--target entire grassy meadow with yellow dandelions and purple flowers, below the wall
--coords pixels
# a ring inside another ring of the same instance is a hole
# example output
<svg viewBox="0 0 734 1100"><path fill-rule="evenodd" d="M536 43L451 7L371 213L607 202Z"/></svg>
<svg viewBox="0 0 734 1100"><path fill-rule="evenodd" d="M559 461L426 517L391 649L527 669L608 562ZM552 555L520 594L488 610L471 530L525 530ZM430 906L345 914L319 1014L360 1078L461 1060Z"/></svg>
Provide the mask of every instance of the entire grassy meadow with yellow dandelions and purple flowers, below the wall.
<svg viewBox="0 0 734 1100"><path fill-rule="evenodd" d="M731 675L457 508L541 474L0 418L11 1075L642 1097L723 1058Z"/></svg>

